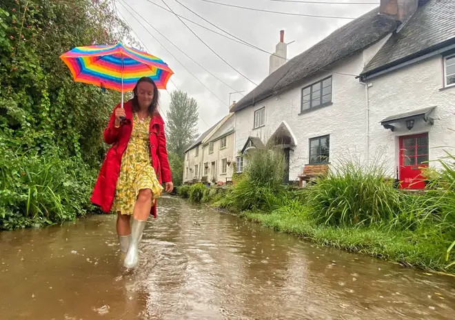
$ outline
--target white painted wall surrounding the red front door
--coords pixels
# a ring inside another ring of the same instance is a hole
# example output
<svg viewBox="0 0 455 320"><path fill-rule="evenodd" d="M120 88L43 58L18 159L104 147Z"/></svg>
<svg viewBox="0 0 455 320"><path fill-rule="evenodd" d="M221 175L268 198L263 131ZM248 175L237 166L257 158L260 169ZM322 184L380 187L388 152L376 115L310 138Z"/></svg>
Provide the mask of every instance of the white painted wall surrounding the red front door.
<svg viewBox="0 0 455 320"><path fill-rule="evenodd" d="M444 150L454 152L455 87L443 89L443 58L432 57L395 70L369 82L370 97L370 154L381 152L387 167L394 172L398 166L398 137L428 132L429 160L445 157ZM412 130L396 126L386 130L380 121L394 114L436 106L432 117L434 126L418 120ZM445 148L441 148L445 147ZM438 166L430 162L431 166Z"/></svg>

